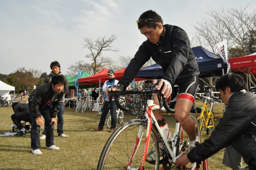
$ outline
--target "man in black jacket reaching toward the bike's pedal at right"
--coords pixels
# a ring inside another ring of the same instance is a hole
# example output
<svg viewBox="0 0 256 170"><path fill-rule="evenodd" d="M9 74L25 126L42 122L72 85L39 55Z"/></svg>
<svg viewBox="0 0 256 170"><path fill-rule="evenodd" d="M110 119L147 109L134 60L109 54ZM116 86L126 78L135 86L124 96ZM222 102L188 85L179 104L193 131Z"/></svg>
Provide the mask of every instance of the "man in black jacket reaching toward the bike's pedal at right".
<svg viewBox="0 0 256 170"><path fill-rule="evenodd" d="M245 91L247 85L238 74L228 73L216 82L216 89L227 106L220 123L202 144L182 155L175 165L201 162L219 150L233 145L249 170L256 170L256 95Z"/></svg>

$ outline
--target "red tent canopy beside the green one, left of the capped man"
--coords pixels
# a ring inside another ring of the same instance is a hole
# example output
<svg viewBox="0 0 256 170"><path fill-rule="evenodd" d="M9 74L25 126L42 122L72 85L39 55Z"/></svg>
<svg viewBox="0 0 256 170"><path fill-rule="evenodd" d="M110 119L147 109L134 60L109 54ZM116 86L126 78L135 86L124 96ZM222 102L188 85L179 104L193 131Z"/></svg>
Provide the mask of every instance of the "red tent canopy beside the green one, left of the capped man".
<svg viewBox="0 0 256 170"><path fill-rule="evenodd" d="M108 80L108 69L104 67L99 73L96 73L89 77L84 77L78 79L78 82L90 82L90 83L104 83L106 80Z"/></svg>

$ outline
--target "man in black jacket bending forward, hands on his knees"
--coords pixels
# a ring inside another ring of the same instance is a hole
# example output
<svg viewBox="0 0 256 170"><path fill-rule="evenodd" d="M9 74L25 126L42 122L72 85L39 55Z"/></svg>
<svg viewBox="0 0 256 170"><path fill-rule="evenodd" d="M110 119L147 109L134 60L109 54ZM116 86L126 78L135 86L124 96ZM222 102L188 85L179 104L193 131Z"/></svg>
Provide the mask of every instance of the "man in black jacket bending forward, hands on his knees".
<svg viewBox="0 0 256 170"><path fill-rule="evenodd" d="M45 119L46 149L59 150L53 143L54 125L56 115L60 110L63 100L63 88L65 79L61 75L54 75L51 83L42 84L37 87L29 96L28 107L32 119L31 124L31 148L34 155L41 155L40 151L40 125L43 125L41 115ZM52 105L52 107L50 106Z"/></svg>

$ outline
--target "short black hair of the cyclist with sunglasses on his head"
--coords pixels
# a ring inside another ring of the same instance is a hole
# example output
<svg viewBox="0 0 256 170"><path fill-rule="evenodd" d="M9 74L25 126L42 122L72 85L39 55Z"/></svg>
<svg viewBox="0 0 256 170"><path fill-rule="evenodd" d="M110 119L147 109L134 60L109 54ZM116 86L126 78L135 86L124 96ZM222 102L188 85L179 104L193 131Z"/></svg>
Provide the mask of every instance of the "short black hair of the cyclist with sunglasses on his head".
<svg viewBox="0 0 256 170"><path fill-rule="evenodd" d="M146 12L143 12L139 19L153 19L153 20L161 22L162 25L163 25L163 20L162 20L161 16L159 14L157 14L155 11L152 11L152 10L148 10ZM141 29L142 27L148 27L148 28L156 29L156 22L149 21L149 22L146 22L142 25L140 25L140 23L138 23L138 29Z"/></svg>

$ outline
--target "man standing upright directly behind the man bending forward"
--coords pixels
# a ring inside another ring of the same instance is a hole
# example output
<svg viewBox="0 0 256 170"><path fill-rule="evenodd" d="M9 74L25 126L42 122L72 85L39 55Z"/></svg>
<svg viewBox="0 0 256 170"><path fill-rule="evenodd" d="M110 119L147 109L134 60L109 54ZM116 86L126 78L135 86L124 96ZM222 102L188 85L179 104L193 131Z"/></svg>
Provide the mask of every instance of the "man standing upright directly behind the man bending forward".
<svg viewBox="0 0 256 170"><path fill-rule="evenodd" d="M60 63L58 61L53 61L50 63L50 68L52 71L50 72L49 75L45 77L45 83L50 83L51 79L54 75L61 75L64 77L65 83L64 83L64 95L63 95L63 101L61 103L60 111L58 112L57 115L57 133L59 137L69 137L68 135L65 135L63 132L63 124L64 124L64 119L63 119L63 114L64 114L64 109L65 109L65 95L68 93L68 79L67 77L60 72ZM45 127L45 130L42 132L42 136L40 137L40 140L43 140L46 138L46 130L47 128Z"/></svg>

